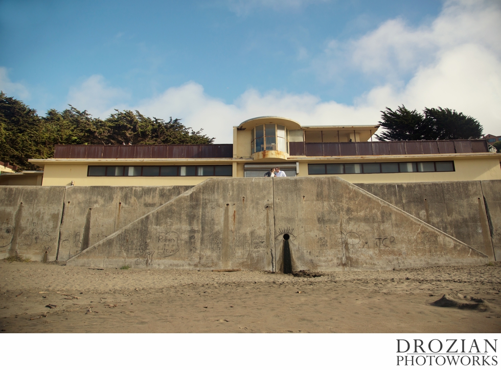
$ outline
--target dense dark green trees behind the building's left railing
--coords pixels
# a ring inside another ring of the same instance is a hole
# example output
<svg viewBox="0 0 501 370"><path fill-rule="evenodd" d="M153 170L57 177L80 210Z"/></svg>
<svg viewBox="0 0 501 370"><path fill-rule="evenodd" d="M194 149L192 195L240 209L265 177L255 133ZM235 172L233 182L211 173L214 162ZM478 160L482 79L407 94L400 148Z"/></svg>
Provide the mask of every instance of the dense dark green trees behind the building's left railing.
<svg viewBox="0 0 501 370"><path fill-rule="evenodd" d="M185 127L178 118L165 121L139 111L118 111L106 119L87 111L50 109L44 117L0 91L0 160L33 170L28 159L51 158L55 144L211 144L214 138Z"/></svg>

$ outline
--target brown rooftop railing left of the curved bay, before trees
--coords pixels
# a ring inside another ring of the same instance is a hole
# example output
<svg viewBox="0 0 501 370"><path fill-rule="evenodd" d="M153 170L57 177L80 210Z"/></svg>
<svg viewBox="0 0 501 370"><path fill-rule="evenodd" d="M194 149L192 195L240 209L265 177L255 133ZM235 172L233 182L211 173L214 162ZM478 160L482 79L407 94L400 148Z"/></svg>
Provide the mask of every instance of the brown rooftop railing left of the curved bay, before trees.
<svg viewBox="0 0 501 370"><path fill-rule="evenodd" d="M54 158L232 158L233 144L56 145Z"/></svg>

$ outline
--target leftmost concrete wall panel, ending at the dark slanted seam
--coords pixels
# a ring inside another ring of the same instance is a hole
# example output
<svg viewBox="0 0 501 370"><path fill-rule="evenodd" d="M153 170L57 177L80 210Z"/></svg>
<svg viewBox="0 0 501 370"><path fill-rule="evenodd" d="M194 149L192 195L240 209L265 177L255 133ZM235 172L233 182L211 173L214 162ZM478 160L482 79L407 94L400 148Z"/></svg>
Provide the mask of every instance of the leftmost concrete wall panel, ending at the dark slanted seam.
<svg viewBox="0 0 501 370"><path fill-rule="evenodd" d="M64 186L0 187L0 258L56 259Z"/></svg>

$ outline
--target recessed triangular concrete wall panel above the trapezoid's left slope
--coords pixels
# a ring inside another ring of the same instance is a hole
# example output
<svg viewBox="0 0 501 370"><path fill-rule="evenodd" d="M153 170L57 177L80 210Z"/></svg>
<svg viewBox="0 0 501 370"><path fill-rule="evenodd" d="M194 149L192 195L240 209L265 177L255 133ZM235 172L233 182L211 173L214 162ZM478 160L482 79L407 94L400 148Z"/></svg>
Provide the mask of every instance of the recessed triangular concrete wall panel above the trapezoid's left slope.
<svg viewBox="0 0 501 370"><path fill-rule="evenodd" d="M71 258L191 187L67 187L58 260Z"/></svg>

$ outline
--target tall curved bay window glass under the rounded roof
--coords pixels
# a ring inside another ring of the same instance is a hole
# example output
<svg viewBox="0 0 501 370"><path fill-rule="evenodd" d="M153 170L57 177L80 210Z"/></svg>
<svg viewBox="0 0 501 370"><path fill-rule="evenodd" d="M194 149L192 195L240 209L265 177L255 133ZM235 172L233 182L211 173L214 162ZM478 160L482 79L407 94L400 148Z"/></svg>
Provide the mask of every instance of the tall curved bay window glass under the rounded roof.
<svg viewBox="0 0 501 370"><path fill-rule="evenodd" d="M250 153L263 151L281 151L289 153L287 145L288 130L285 126L266 124L252 129Z"/></svg>

